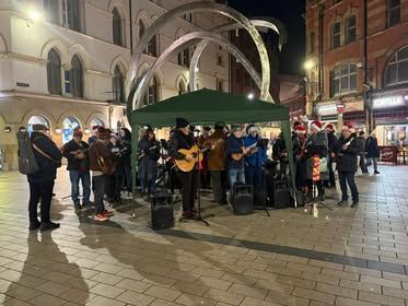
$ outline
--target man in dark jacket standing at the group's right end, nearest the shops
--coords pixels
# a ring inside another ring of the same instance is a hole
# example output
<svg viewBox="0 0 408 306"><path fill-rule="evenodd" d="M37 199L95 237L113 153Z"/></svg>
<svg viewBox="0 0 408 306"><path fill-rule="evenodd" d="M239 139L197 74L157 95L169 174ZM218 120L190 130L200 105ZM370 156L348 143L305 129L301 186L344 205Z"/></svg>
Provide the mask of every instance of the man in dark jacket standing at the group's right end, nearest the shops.
<svg viewBox="0 0 408 306"><path fill-rule="evenodd" d="M358 155L360 146L355 133L349 126L341 128L341 137L338 140L336 152L333 153L337 157L337 170L339 173L339 181L341 188L341 201L339 205L347 204L347 184L351 190L352 208L359 204L359 191L354 181L354 175L358 169ZM347 184L346 184L347 183Z"/></svg>

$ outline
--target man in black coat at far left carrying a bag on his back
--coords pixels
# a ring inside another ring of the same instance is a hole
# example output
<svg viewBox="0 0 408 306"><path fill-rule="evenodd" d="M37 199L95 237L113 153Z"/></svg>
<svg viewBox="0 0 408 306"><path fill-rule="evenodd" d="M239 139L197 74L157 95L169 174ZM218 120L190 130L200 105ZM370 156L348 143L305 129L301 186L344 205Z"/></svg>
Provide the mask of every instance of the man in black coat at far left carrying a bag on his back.
<svg viewBox="0 0 408 306"><path fill-rule="evenodd" d="M33 126L31 141L39 170L35 174L27 175L30 184L30 229L55 229L59 227L59 224L51 222L50 208L54 181L57 177L57 167L60 166L62 154L53 140L50 140L48 128L43 125ZM37 205L39 200L42 201L42 222L38 221L37 216Z"/></svg>

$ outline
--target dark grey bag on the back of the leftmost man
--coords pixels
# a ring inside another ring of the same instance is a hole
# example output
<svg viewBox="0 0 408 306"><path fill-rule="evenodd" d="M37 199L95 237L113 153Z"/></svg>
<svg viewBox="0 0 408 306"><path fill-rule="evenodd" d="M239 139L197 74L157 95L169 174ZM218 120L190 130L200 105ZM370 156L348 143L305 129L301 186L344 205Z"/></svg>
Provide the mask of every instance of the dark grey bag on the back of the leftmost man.
<svg viewBox="0 0 408 306"><path fill-rule="evenodd" d="M32 142L27 131L16 133L19 143L19 170L21 174L28 175L39 172L37 160L35 158Z"/></svg>

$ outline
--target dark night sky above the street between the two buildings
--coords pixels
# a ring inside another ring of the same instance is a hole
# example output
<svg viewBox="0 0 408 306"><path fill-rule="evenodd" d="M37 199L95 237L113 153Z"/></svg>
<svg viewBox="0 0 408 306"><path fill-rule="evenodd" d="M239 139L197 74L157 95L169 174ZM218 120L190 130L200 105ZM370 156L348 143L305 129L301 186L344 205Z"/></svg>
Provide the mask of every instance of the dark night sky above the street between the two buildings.
<svg viewBox="0 0 408 306"><path fill-rule="evenodd" d="M246 16L267 15L282 21L288 30L288 44L280 56L280 73L303 74L304 0L229 0L229 5Z"/></svg>

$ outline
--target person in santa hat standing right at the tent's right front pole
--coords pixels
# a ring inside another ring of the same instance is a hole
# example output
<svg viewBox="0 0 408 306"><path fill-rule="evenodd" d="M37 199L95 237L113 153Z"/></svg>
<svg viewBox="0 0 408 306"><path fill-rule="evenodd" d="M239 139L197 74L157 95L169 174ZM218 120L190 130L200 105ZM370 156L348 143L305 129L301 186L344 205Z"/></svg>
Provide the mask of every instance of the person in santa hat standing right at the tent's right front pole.
<svg viewBox="0 0 408 306"><path fill-rule="evenodd" d="M306 160L303 156L303 145L306 141L306 128L303 125L294 127L292 136L293 157L295 164L295 183L298 190L306 187Z"/></svg>

